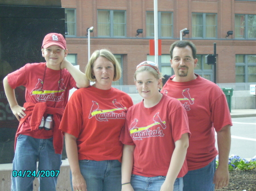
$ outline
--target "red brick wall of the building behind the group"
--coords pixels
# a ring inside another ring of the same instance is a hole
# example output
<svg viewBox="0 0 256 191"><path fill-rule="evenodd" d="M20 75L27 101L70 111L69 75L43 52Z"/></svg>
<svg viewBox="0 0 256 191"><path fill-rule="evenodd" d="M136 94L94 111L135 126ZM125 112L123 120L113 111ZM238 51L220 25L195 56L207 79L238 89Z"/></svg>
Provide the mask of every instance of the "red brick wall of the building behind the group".
<svg viewBox="0 0 256 191"><path fill-rule="evenodd" d="M88 62L88 39L86 29L93 26L90 33L90 53L107 48L114 54L125 54L123 61L123 83L134 84L135 66L146 60L148 39L146 39L146 11L154 11L153 0L61 0L62 7L77 10L77 38L67 38L69 53L77 54L77 62L83 71ZM126 10L127 38L97 37L97 10ZM191 33L184 39L197 46L198 54L213 54L213 43L217 45L217 83L236 82L236 54L256 54L255 40L235 40L234 35L225 39L226 32L234 31L234 14L255 14L256 2L234 0L161 0L158 11L171 11L174 16L174 39L162 39L162 54L168 54L170 45L179 40L180 30L192 31L192 12L216 13L218 18L216 40L191 39ZM143 33L136 38L136 31Z"/></svg>

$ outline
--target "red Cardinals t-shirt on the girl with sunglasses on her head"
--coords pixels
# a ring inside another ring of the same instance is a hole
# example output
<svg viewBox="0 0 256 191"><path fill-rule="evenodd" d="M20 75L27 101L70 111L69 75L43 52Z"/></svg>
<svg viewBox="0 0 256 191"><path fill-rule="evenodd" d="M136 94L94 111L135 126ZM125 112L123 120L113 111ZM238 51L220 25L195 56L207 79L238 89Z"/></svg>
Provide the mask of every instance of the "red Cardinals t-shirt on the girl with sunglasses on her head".
<svg viewBox="0 0 256 191"><path fill-rule="evenodd" d="M170 167L175 142L189 133L188 118L179 101L163 95L154 107L145 108L143 101L129 108L120 140L124 145L135 145L134 175L166 176ZM185 161L179 175L188 171Z"/></svg>

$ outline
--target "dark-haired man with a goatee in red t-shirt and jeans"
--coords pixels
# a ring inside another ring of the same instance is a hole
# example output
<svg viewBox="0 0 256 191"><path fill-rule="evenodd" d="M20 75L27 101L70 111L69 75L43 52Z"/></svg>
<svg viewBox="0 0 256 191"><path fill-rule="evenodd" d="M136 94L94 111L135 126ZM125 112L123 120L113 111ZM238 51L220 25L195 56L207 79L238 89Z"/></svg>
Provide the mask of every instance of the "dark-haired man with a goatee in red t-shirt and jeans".
<svg viewBox="0 0 256 191"><path fill-rule="evenodd" d="M196 46L189 41L171 45L171 67L175 75L162 93L180 100L188 114L191 138L187 150L185 191L212 191L228 185L228 158L232 121L224 92L213 82L194 73ZM177 119L178 120L178 119ZM218 151L215 147L217 133ZM216 156L219 165L216 169Z"/></svg>

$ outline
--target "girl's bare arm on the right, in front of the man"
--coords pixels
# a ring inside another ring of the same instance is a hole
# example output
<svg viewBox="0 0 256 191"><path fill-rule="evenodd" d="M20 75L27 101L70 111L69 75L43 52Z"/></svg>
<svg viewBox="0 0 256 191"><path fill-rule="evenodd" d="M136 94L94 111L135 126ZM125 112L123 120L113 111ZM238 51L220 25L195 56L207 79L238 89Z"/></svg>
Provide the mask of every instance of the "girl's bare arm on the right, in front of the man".
<svg viewBox="0 0 256 191"><path fill-rule="evenodd" d="M174 182L177 178L177 175L179 175L180 169L184 163L188 144L188 133L181 135L181 138L175 142L175 149L172 154L170 167L166 175L166 180L161 186L160 191L174 190Z"/></svg>

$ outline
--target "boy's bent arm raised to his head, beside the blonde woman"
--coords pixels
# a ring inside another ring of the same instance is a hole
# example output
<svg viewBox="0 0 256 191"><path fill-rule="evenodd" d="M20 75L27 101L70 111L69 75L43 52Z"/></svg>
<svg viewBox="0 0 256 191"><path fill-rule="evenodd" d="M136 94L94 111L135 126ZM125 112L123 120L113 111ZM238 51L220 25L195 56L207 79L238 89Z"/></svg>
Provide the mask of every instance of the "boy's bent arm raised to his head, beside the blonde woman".
<svg viewBox="0 0 256 191"><path fill-rule="evenodd" d="M77 69L75 66L72 65L69 61L67 61L67 58L64 57L64 60L60 64L61 69L67 69L69 73L72 75L72 77L76 81L76 87L82 88L82 87L88 87L90 85L90 81L85 77L85 74L82 73L79 69Z"/></svg>

